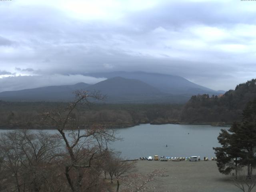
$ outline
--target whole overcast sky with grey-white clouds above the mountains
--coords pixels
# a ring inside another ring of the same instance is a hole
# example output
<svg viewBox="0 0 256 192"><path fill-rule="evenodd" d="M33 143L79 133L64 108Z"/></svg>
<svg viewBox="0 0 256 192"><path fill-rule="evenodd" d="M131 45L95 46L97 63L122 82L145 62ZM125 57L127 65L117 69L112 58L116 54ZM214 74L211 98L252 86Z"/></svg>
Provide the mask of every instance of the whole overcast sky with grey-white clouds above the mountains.
<svg viewBox="0 0 256 192"><path fill-rule="evenodd" d="M120 70L214 90L256 78L256 1L2 0L0 18L0 92Z"/></svg>

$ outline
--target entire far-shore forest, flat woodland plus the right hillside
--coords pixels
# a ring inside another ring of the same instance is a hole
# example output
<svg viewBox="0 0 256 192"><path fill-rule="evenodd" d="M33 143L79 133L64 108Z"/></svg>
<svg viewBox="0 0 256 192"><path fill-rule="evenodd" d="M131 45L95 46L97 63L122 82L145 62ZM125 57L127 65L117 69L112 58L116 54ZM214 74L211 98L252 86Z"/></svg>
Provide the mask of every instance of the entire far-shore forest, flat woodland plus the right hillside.
<svg viewBox="0 0 256 192"><path fill-rule="evenodd" d="M104 124L110 128L137 124L230 124L240 120L246 103L256 98L256 80L236 86L223 95L192 96L185 104L92 104L80 105L76 113L84 126ZM62 110L66 102L5 102L0 101L1 128L42 127L40 114Z"/></svg>

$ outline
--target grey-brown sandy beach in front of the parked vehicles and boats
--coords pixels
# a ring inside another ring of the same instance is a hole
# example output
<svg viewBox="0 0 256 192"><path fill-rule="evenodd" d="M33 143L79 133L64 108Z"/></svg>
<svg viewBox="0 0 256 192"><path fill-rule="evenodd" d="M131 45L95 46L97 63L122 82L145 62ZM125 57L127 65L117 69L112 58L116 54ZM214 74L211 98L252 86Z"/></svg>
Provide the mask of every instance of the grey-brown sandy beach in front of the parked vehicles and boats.
<svg viewBox="0 0 256 192"><path fill-rule="evenodd" d="M148 183L154 185L156 192L239 192L230 176L220 174L216 161L200 162L161 162L139 160L137 171L148 173L150 170L166 170L165 176Z"/></svg>

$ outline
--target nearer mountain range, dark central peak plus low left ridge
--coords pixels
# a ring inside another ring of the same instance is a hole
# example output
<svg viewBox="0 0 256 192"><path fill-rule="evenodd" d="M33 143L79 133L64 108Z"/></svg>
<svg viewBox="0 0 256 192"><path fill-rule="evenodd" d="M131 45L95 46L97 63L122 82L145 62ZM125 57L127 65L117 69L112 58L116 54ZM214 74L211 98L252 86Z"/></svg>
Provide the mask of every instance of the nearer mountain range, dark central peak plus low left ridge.
<svg viewBox="0 0 256 192"><path fill-rule="evenodd" d="M94 85L78 83L72 86L50 86L0 93L0 100L7 101L71 101L72 92L84 89L90 92L100 91L106 94L107 103L184 103L187 95L172 95L161 92L145 82L135 79L114 77Z"/></svg>

